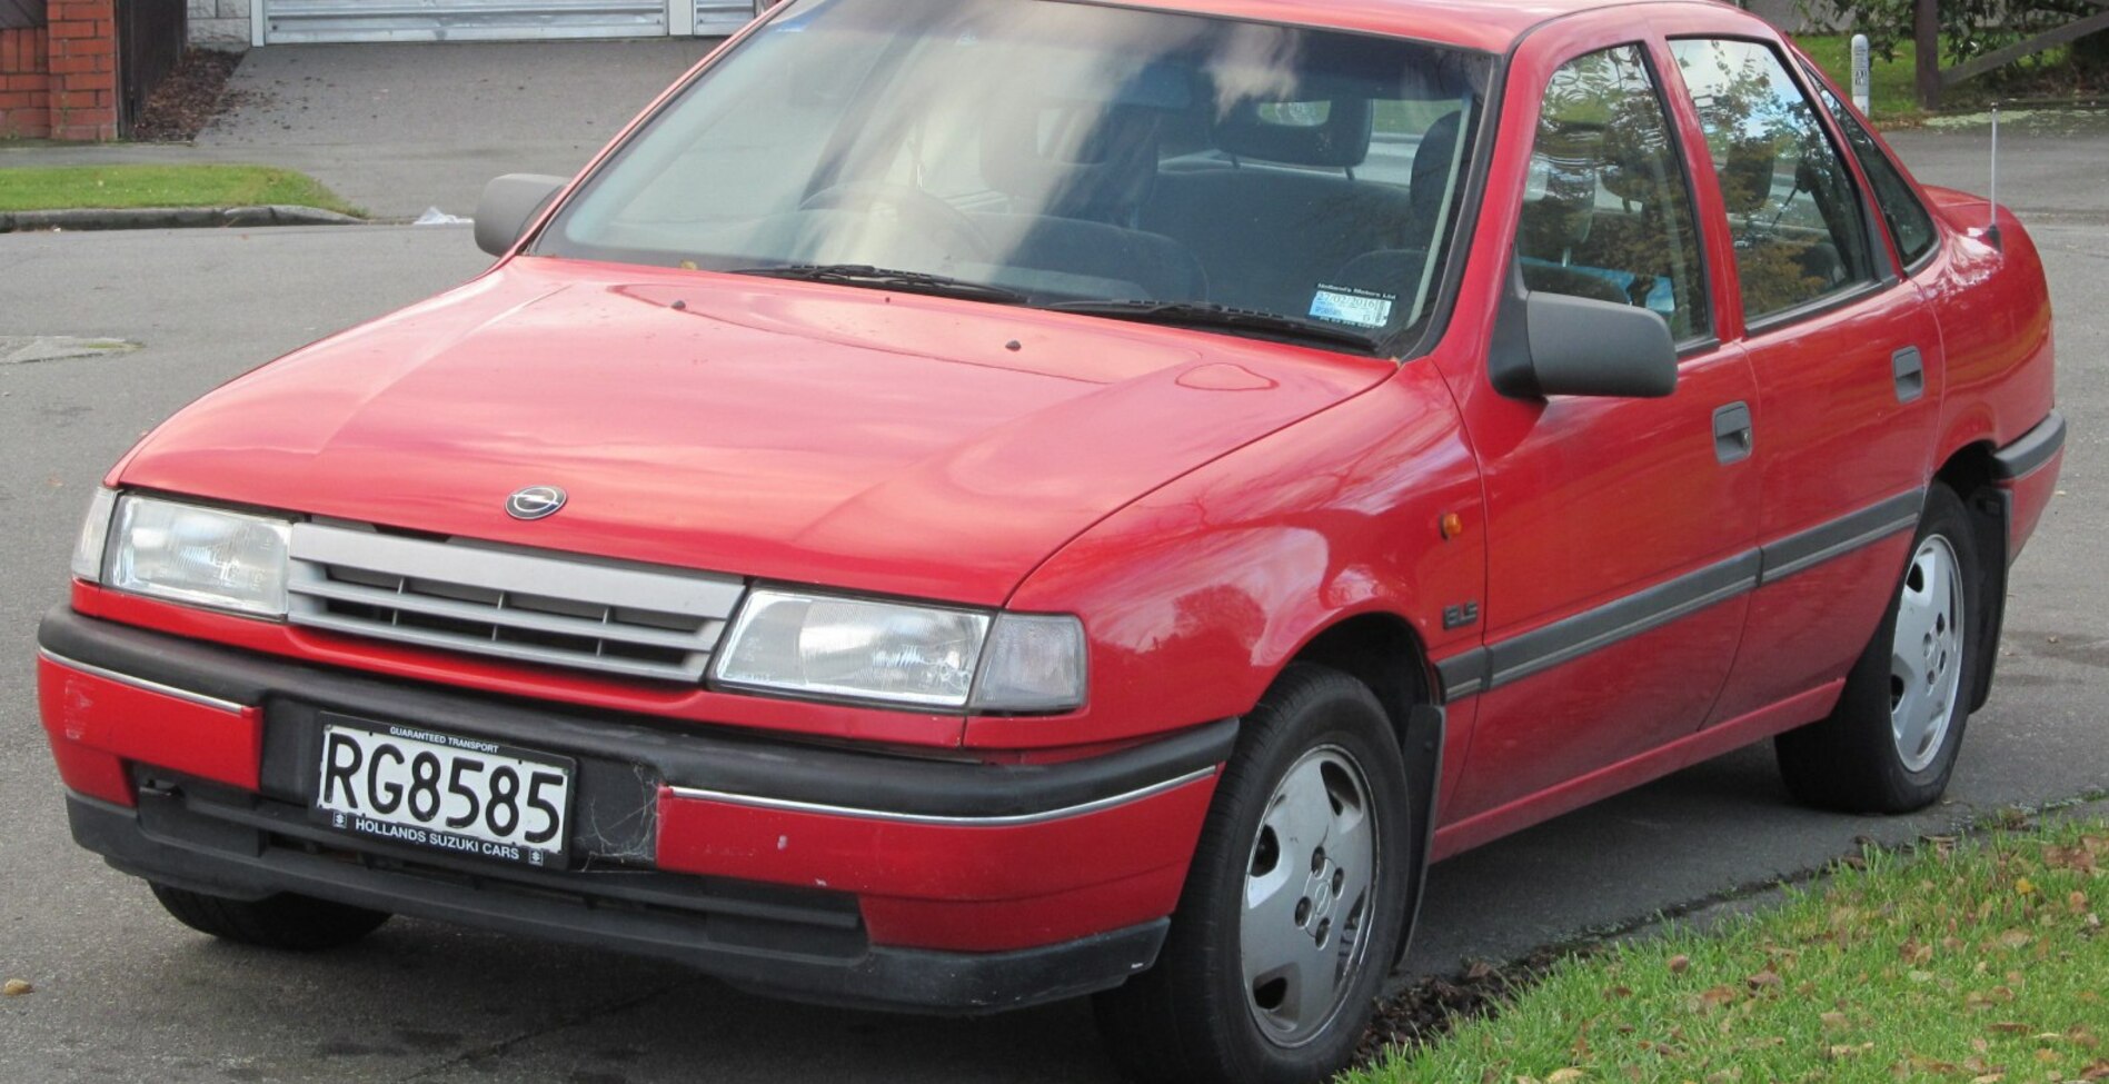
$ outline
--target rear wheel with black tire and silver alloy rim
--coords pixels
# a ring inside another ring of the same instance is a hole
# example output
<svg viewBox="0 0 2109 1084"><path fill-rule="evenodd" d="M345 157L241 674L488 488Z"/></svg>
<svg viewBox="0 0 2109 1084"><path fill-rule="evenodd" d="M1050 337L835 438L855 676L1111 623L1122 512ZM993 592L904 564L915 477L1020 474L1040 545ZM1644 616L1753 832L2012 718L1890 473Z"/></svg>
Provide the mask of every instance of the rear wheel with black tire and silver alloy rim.
<svg viewBox="0 0 2109 1084"><path fill-rule="evenodd" d="M1978 637L1989 622L1970 512L1934 485L1911 540L1911 559L1875 637L1818 723L1774 738L1786 789L1810 806L1898 814L1932 806L1949 787Z"/></svg>

